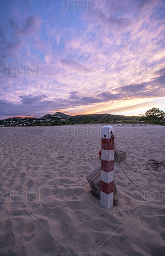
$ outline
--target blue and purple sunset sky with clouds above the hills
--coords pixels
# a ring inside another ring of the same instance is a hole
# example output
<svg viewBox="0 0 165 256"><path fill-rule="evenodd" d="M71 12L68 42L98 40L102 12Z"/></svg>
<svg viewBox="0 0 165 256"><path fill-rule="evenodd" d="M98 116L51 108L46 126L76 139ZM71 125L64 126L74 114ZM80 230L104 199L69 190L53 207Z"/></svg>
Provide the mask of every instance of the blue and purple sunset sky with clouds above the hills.
<svg viewBox="0 0 165 256"><path fill-rule="evenodd" d="M165 1L1 0L0 119L165 111Z"/></svg>

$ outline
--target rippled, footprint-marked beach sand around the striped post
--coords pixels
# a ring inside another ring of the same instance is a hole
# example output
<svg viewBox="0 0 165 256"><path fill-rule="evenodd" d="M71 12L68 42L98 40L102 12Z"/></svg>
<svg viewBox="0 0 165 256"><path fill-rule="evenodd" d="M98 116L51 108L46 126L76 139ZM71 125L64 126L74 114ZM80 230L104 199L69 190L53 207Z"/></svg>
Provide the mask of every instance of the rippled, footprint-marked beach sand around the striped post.
<svg viewBox="0 0 165 256"><path fill-rule="evenodd" d="M165 191L165 170L138 167L165 159L164 127L113 125L126 163L149 174L121 164L144 191L116 163L119 205L105 209L86 179L100 166L101 126L0 129L1 256L165 255L165 195L150 192Z"/></svg>

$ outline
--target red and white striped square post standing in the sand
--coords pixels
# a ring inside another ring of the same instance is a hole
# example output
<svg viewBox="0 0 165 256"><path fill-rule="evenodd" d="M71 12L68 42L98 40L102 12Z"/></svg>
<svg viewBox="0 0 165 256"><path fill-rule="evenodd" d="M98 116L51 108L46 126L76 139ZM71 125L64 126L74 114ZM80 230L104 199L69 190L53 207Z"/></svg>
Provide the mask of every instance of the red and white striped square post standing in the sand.
<svg viewBox="0 0 165 256"><path fill-rule="evenodd" d="M114 128L104 125L101 128L101 188L100 203L104 208L113 206L114 176Z"/></svg>

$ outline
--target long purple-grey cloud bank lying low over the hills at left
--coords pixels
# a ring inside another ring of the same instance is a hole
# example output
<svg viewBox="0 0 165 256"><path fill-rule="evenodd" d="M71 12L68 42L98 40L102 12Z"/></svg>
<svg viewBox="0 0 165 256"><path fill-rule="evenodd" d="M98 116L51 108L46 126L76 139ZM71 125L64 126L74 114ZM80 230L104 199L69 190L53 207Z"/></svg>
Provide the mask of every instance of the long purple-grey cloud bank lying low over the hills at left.
<svg viewBox="0 0 165 256"><path fill-rule="evenodd" d="M33 96L29 94L19 96L21 98L20 103L12 103L8 100L1 100L1 116L34 115L36 117L40 117L46 113L52 112L52 110L55 110L56 112L58 110L71 107L77 108L79 106L88 106L95 103L102 103L105 100L110 100L110 98L106 99L107 94L108 92L105 94L100 93L96 96L87 96L80 94L78 91L71 91L69 96L65 99L54 98L52 100L47 99L46 95ZM110 95L110 93L108 95Z"/></svg>

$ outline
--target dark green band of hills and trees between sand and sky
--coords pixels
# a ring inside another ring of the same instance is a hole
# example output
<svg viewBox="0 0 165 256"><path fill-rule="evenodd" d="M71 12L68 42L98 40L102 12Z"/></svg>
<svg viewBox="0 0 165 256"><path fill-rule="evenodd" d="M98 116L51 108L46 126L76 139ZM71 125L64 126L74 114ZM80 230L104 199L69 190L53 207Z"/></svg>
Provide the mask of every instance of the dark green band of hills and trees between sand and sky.
<svg viewBox="0 0 165 256"><path fill-rule="evenodd" d="M55 126L55 125L71 125L71 124L158 124L165 125L163 119L165 113L157 108L147 110L143 116L122 116L111 114L93 114L93 115L77 115L69 116L64 113L56 112L54 115L47 114L42 118L8 118L0 120L2 127L13 126Z"/></svg>

